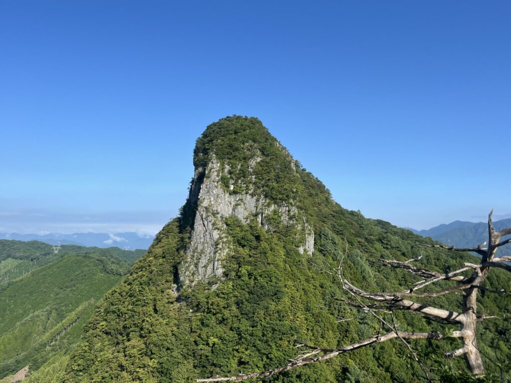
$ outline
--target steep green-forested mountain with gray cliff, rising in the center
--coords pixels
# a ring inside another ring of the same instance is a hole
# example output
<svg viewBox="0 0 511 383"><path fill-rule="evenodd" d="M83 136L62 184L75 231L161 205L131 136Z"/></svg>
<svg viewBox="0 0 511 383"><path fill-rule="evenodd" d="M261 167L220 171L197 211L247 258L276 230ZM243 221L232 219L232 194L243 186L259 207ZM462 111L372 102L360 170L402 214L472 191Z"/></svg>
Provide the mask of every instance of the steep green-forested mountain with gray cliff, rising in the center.
<svg viewBox="0 0 511 383"><path fill-rule="evenodd" d="M179 217L157 234L148 254L97 306L58 377L45 381L191 382L285 365L296 356L295 340L338 347L378 331L369 315L333 300L344 293L322 269L336 267L341 258L344 275L373 291L402 289L401 284L415 280L373 268L371 259L423 255L423 264L438 271L474 259L417 248L417 243L432 242L343 209L257 118L226 117L208 126L197 140L194 165ZM446 308L457 301L455 296L435 300ZM509 304L505 297L482 302L488 315ZM410 313L396 316L402 329L445 329ZM491 330L480 344L488 354L497 342L509 341L505 331L499 339ZM411 343L428 366L443 368L438 355L445 344ZM507 349L502 352L509 356ZM463 368L462 361L453 365ZM423 379L399 342L268 378Z"/></svg>

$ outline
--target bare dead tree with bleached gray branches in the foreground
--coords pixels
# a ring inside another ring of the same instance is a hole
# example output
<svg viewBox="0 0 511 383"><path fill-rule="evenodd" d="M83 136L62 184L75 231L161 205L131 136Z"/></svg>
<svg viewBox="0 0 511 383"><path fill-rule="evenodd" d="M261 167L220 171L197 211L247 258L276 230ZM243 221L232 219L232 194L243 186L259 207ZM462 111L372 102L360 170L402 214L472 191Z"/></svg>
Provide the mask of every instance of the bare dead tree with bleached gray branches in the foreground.
<svg viewBox="0 0 511 383"><path fill-rule="evenodd" d="M454 358L463 355L467 363L467 366L472 372L472 374L476 376L484 375L482 358L477 347L476 328L477 324L480 321L484 319L489 319L491 317L477 316L477 294L479 290L495 294L507 293L504 290L486 289L482 286L482 283L486 279L488 273L490 272L490 269L493 267L504 269L508 272L511 272L510 256L502 256L499 258L495 258L495 253L497 252L499 247L511 243L511 238L501 241L502 237L506 235L511 235L511 228L495 231L492 224L492 214L493 210L490 212L488 216L489 229L488 241L483 242L482 244L478 245L475 248L461 249L445 245L423 245L423 247L442 248L451 251L475 252L481 256L481 261L479 262L478 265L466 263L464 264L464 267L461 269L443 274L412 265L412 262L419 260L421 257L409 259L407 261L398 261L393 259L379 259L378 261L376 261L375 263L378 265L402 269L422 278L420 282L415 283L414 285L411 286L410 289L407 289L402 292L368 293L357 288L355 285L351 284L343 277L342 259L339 262L336 270L333 269L332 267L330 267L330 270L324 269L322 270L324 272L327 272L328 274L335 275L336 278L339 279L342 288L352 298L352 299L335 298L337 301L340 301L342 304L347 304L351 307L364 310L365 312L370 313L380 321L380 331L375 336L337 349L326 349L298 342L295 346L297 348L305 348L305 351L301 352L299 356L290 359L289 363L286 366L277 367L262 372L240 374L237 376L229 377L216 376L205 379L196 379L196 381L197 382L241 381L245 379L269 377L280 372L289 371L307 364L325 361L337 355L350 352L361 347L369 346L371 344L386 342L391 339L398 339L406 346L414 360L420 364L421 368L425 373L426 379L431 381L427 369L421 364L415 351L413 351L413 349L407 343L407 340L411 339L442 340L447 337L458 338L461 341L462 347L447 352L444 354L444 356L446 358ZM487 247L484 247L486 245ZM345 254L346 253L347 242ZM471 275L469 276L463 275L467 274L466 273L467 271L472 271ZM451 281L455 282L456 284L449 288L436 290L433 292L419 291L425 288L425 286L433 285L434 283L439 281ZM454 310L446 310L443 308L433 307L428 304L420 304L412 300L406 299L409 297L434 298L452 293L456 293L462 296L462 302L460 307L461 309L459 310L459 312ZM410 310L411 312L423 315L433 320L441 321L443 323L456 324L459 325L459 330L452 331L449 334L443 334L439 332L399 331L393 316L393 310L396 309ZM387 317L388 315L390 315L391 321L386 320L381 313L387 314ZM344 320L346 319L340 318L340 321ZM388 332L381 333L382 328L387 328Z"/></svg>

